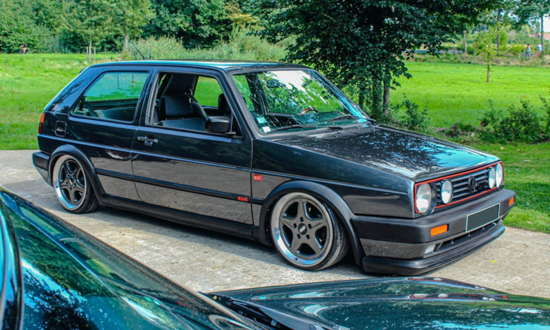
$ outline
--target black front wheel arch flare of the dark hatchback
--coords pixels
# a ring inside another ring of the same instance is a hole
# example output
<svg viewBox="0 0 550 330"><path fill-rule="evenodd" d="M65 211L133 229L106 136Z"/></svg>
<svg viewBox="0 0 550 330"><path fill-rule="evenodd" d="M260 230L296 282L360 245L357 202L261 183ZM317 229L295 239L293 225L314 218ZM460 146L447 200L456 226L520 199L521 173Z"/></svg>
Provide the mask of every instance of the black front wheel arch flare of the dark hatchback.
<svg viewBox="0 0 550 330"><path fill-rule="evenodd" d="M327 205L336 213L338 218L344 223L344 227L347 230L349 241L351 242L351 248L353 250L353 256L355 256L355 263L361 264L364 256L361 242L358 235L355 233L355 228L351 223L353 212L351 212L347 203L336 192L323 186L310 181L288 181L285 182L270 192L270 195L263 200L262 208L260 212L259 228L254 228L253 236L256 240L265 245L272 245L272 239L270 234L270 215L271 209L279 197L287 195L289 192L304 192L320 201L327 203Z"/></svg>

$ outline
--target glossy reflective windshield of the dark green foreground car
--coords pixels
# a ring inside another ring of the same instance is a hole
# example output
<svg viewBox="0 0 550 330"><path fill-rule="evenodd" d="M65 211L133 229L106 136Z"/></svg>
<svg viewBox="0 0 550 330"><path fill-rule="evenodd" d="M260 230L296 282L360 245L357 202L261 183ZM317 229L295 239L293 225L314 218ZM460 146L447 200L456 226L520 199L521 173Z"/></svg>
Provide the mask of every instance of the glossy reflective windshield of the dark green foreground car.
<svg viewBox="0 0 550 330"><path fill-rule="evenodd" d="M211 315L244 327L207 298L14 195L0 195L10 201L5 214L21 251L25 329L217 329Z"/></svg>

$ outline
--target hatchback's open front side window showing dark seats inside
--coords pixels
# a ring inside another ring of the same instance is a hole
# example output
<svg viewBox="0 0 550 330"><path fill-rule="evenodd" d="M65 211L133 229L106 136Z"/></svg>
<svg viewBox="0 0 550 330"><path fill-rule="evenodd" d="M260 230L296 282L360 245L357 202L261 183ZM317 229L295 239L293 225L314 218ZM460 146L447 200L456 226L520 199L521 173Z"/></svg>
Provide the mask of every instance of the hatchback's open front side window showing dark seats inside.
<svg viewBox="0 0 550 330"><path fill-rule="evenodd" d="M239 135L236 118L216 79L190 74L161 73L155 95L155 107L148 124L172 129L206 131L210 116L232 120L232 129ZM199 98L199 100L197 100Z"/></svg>

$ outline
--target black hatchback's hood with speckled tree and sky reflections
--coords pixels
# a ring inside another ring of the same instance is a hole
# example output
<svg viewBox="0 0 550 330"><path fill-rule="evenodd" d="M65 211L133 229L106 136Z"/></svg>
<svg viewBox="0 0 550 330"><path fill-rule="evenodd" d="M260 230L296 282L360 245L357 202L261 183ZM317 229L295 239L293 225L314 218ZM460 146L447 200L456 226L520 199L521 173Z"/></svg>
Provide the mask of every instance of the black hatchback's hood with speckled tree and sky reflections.
<svg viewBox="0 0 550 330"><path fill-rule="evenodd" d="M309 137L295 135L276 142L368 164L411 179L455 173L498 160L460 144L388 126Z"/></svg>

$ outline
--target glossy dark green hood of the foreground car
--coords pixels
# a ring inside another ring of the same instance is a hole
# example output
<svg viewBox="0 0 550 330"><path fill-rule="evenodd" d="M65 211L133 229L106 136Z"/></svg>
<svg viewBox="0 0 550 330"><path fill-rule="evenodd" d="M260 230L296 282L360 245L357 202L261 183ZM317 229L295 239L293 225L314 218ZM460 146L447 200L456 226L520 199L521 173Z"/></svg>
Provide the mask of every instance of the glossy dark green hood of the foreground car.
<svg viewBox="0 0 550 330"><path fill-rule="evenodd" d="M550 329L550 300L442 278L340 281L221 292L333 329Z"/></svg>

